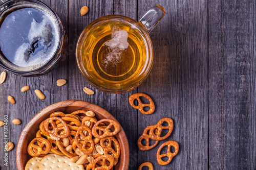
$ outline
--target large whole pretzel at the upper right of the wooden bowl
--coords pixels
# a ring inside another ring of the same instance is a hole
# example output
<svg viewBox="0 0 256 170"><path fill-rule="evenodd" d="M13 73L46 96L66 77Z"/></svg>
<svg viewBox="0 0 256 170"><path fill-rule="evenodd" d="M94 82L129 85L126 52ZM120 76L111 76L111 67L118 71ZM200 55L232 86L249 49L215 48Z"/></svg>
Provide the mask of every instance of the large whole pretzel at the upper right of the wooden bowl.
<svg viewBox="0 0 256 170"><path fill-rule="evenodd" d="M102 128L102 127L99 127L99 124L102 123L102 122L108 122L110 123L106 128ZM113 132L109 132L110 128L114 126L114 130ZM103 134L100 135L97 131L102 131ZM93 136L99 138L99 139L102 139L102 138L105 138L106 136L114 136L116 135L118 132L120 131L120 125L118 122L116 122L115 120L112 120L112 119L108 119L108 118L105 118L105 119L101 119L99 120L94 126L93 126L93 129L92 129L92 134Z"/></svg>

